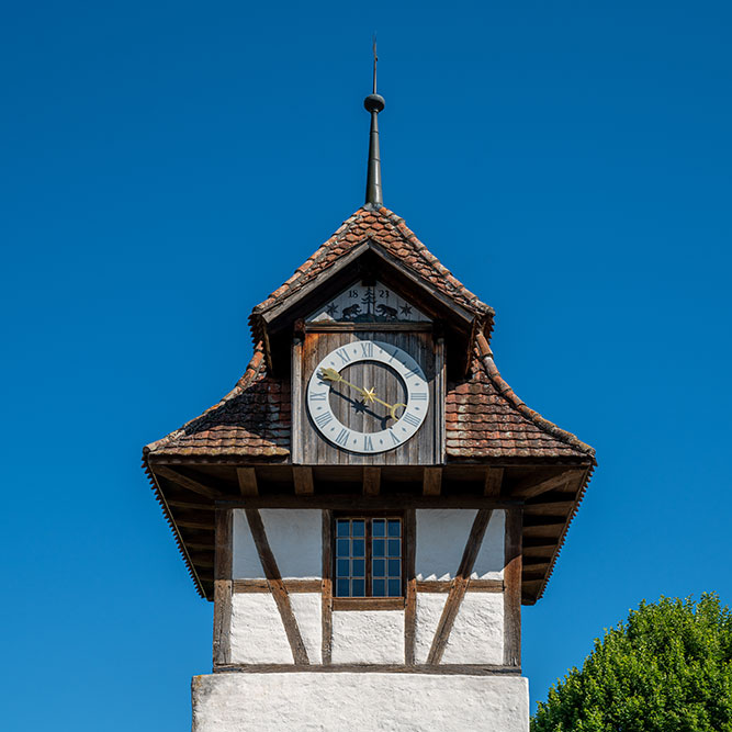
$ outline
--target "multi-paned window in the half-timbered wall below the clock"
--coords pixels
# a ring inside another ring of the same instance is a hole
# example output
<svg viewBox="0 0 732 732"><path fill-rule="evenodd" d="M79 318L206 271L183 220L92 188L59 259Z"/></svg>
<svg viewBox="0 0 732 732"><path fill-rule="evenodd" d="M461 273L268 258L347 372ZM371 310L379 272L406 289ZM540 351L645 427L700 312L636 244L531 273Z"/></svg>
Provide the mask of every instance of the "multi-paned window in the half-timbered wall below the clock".
<svg viewBox="0 0 732 732"><path fill-rule="evenodd" d="M404 523L399 517L338 517L335 597L403 597Z"/></svg>

